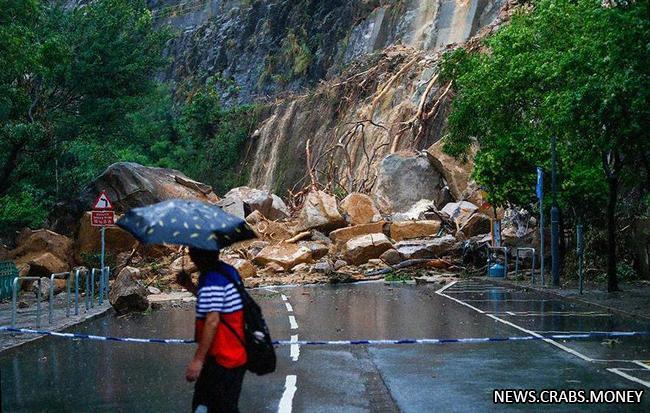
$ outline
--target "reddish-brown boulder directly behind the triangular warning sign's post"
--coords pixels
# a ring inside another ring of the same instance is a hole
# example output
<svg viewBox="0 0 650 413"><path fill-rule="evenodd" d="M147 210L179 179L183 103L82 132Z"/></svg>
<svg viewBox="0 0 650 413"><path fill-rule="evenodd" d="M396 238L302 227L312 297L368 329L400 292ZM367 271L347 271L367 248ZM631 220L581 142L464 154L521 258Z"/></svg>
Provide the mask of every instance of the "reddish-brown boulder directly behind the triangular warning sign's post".
<svg viewBox="0 0 650 413"><path fill-rule="evenodd" d="M115 255L131 251L137 242L131 234L119 227L106 227L105 237L106 252ZM75 243L75 261L81 264L86 261L86 255L99 254L101 245L101 232L98 227L91 225L91 213L86 212L79 223Z"/></svg>

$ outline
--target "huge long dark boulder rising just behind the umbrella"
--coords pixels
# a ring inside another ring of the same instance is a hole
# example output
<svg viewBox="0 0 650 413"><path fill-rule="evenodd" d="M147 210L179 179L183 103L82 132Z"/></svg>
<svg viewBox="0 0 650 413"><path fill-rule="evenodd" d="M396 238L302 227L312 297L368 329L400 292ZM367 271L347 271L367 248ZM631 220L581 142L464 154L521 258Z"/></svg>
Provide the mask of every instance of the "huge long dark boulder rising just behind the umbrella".
<svg viewBox="0 0 650 413"><path fill-rule="evenodd" d="M106 191L117 213L168 199L211 203L219 200L209 185L194 181L180 171L118 162L89 183L76 201L58 206L49 223L61 233L72 234L79 218L93 207L101 191Z"/></svg>

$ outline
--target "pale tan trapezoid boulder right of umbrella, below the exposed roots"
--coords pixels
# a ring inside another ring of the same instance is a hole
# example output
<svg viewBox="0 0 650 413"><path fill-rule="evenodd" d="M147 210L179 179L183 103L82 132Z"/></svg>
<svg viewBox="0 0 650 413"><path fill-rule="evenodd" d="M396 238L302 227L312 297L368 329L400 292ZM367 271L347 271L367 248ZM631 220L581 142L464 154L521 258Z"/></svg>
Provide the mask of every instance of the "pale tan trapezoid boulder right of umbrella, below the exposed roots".
<svg viewBox="0 0 650 413"><path fill-rule="evenodd" d="M312 191L307 195L298 214L296 232L317 229L329 232L345 226L345 220L336 206L336 198L323 191Z"/></svg>

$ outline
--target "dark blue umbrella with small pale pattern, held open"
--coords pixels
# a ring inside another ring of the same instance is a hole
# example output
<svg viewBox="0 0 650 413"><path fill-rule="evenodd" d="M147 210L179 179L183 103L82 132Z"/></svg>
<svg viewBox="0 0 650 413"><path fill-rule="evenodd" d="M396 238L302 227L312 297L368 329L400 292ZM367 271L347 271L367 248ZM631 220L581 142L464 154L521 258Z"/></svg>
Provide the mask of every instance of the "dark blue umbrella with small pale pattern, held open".
<svg viewBox="0 0 650 413"><path fill-rule="evenodd" d="M133 208L117 225L144 244L185 245L210 251L255 238L246 221L221 207L183 199Z"/></svg>

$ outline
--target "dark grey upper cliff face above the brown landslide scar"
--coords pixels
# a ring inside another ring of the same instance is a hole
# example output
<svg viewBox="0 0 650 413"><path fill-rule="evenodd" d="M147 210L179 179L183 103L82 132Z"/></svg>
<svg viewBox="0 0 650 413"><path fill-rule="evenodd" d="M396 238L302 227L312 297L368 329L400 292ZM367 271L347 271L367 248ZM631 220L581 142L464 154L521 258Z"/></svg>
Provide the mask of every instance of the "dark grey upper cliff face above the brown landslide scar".
<svg viewBox="0 0 650 413"><path fill-rule="evenodd" d="M148 0L157 23L178 33L161 77L219 77L231 103L311 88L391 45L435 51L463 42L495 18L502 2Z"/></svg>

